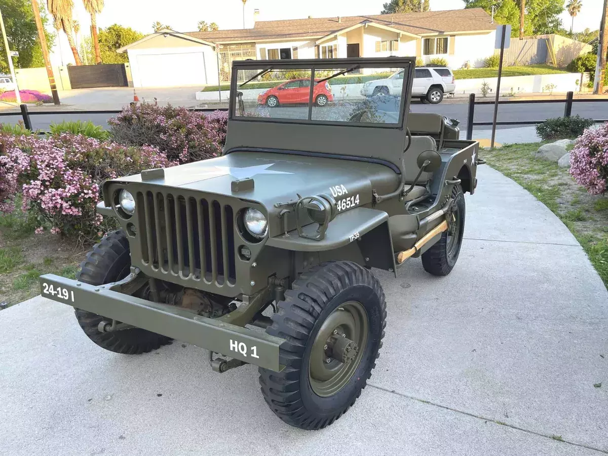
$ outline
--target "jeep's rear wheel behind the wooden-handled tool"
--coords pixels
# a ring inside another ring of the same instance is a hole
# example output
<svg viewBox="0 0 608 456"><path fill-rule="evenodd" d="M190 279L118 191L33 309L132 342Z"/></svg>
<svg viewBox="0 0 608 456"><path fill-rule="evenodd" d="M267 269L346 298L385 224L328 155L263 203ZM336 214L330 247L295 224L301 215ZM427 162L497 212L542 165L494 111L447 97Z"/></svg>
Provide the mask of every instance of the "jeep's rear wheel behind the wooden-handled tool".
<svg viewBox="0 0 608 456"><path fill-rule="evenodd" d="M458 260L462 237L465 233L465 194L460 185L455 185L452 190L454 219L448 223L447 231L441 233L441 238L429 250L422 254L422 265L424 271L433 275L449 274Z"/></svg>

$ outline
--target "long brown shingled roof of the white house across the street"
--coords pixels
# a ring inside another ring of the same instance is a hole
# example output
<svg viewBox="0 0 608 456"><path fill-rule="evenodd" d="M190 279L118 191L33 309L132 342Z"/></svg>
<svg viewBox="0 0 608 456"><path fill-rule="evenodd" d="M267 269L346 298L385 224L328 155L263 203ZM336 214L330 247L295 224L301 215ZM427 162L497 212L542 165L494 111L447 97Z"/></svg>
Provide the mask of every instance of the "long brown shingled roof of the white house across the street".
<svg viewBox="0 0 608 456"><path fill-rule="evenodd" d="M428 11L424 13L345 16L342 18L286 19L258 21L253 29L213 30L188 32L185 35L213 43L285 38L321 38L333 35L358 24L378 24L411 35L437 35L438 33L482 32L496 29L491 17L481 8Z"/></svg>

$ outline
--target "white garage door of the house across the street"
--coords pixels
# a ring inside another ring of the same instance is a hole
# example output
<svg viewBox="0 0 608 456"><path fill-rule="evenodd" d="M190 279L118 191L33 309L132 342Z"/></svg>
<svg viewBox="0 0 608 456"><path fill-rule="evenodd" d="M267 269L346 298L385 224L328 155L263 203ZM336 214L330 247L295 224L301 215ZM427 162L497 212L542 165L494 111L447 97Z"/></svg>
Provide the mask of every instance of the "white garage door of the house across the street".
<svg viewBox="0 0 608 456"><path fill-rule="evenodd" d="M141 87L171 87L207 83L203 52L137 56Z"/></svg>

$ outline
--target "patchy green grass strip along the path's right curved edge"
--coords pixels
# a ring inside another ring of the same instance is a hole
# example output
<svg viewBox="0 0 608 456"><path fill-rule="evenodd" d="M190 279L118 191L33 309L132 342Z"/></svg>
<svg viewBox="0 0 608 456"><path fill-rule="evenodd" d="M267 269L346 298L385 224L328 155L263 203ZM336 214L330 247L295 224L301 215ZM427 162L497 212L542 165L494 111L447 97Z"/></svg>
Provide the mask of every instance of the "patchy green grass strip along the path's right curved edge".
<svg viewBox="0 0 608 456"><path fill-rule="evenodd" d="M564 222L608 288L608 198L589 195L576 184L567 168L535 159L534 153L541 144L510 144L480 155Z"/></svg>

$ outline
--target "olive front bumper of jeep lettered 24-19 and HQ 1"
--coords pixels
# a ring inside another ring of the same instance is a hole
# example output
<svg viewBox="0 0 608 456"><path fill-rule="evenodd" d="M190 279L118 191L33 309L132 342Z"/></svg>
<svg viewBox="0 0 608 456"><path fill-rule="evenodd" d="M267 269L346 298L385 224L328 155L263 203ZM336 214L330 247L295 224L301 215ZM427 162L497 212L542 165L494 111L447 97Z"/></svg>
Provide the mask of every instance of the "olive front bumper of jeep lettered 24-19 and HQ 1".
<svg viewBox="0 0 608 456"><path fill-rule="evenodd" d="M183 308L112 291L112 284L94 286L54 274L40 276L43 297L162 334L274 371L283 339L202 317Z"/></svg>

